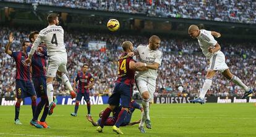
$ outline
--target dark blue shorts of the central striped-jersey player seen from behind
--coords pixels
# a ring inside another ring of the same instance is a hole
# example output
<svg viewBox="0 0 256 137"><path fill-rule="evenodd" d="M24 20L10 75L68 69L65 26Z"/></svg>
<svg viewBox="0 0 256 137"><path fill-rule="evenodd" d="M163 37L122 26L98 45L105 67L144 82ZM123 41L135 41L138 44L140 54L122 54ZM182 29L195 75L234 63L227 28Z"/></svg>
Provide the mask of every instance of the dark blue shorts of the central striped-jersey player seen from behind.
<svg viewBox="0 0 256 137"><path fill-rule="evenodd" d="M116 85L114 86L113 94L108 99L108 104L119 106L120 98L122 107L132 107L132 85L116 83Z"/></svg>

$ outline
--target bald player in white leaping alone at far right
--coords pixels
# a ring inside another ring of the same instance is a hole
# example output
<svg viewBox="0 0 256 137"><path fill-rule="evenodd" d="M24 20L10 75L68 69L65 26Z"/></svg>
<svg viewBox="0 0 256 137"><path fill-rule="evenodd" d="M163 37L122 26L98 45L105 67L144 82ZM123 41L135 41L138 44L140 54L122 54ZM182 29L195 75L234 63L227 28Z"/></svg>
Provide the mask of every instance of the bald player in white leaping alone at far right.
<svg viewBox="0 0 256 137"><path fill-rule="evenodd" d="M203 55L210 61L210 66L207 70L207 75L205 82L203 83L203 88L200 90L199 98L194 100L190 100L191 103L205 103L205 94L207 93L208 89L211 87L211 82L213 76L215 76L217 71L220 71L226 79L234 82L235 84L239 85L242 89L245 90L244 96L250 95L252 90L247 87L237 76L234 76L230 71L228 66L225 63L225 56L223 52L221 52L221 47L218 42L214 39L215 37L220 37L220 33L216 33L215 31L207 31L205 29L199 29L196 25L190 25L188 30L189 35L192 38L198 39L198 44L202 49Z"/></svg>

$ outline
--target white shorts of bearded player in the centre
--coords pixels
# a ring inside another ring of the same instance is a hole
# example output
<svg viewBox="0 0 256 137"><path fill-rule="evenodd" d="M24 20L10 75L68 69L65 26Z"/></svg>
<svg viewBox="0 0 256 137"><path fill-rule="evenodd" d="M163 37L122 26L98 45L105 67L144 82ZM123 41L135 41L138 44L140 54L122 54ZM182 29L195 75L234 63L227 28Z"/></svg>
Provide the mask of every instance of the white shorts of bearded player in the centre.
<svg viewBox="0 0 256 137"><path fill-rule="evenodd" d="M135 82L137 85L137 88L140 92L140 95L144 92L150 93L150 102L154 99L154 92L156 90L156 79L152 79L150 77L136 77Z"/></svg>

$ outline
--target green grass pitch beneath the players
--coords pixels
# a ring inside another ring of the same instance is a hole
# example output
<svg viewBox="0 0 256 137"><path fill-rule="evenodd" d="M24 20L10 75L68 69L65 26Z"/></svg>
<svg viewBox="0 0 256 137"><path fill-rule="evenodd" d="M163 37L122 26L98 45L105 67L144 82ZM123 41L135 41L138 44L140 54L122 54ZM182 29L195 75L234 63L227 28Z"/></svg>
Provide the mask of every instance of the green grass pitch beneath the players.
<svg viewBox="0 0 256 137"><path fill-rule="evenodd" d="M93 105L92 116L98 119L106 105ZM58 105L46 121L51 128L37 129L29 125L31 106L21 106L20 121L14 124L14 106L0 106L0 136L119 136L105 127L98 133L85 119L87 108L79 106L78 116L71 117L74 106ZM153 104L150 108L152 129L142 134L138 125L121 127L120 136L256 136L256 107L252 103L231 104ZM132 121L140 119L136 110Z"/></svg>

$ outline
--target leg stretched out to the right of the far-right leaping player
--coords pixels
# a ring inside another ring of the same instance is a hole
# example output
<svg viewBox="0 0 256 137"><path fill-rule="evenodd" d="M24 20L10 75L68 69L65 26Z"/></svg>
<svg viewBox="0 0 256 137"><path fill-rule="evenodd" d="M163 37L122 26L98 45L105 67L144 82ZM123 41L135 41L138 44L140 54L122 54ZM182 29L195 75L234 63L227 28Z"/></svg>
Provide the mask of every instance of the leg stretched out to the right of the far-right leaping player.
<svg viewBox="0 0 256 137"><path fill-rule="evenodd" d="M244 89L244 95L242 96L242 99L246 98L246 96L250 95L252 93L252 89L247 87L239 77L234 76L229 69L226 69L225 71L222 72L223 76L226 77L228 80L234 82L235 84L239 85L239 87Z"/></svg>

